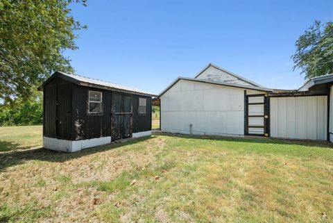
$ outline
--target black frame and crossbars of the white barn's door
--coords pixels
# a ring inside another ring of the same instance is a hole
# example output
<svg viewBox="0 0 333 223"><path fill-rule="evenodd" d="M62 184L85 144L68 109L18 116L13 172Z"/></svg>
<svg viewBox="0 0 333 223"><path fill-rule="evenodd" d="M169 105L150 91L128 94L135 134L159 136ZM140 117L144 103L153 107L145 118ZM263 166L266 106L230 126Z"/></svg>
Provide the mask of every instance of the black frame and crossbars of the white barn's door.
<svg viewBox="0 0 333 223"><path fill-rule="evenodd" d="M255 102L249 103L248 98L250 97L264 97L264 102ZM249 115L248 114L248 106L249 105L263 105L264 106L264 115ZM266 136L269 137L270 134L270 110L269 110L269 97L268 94L246 94L246 90L244 90L244 135L256 135L256 136ZM263 126L250 126L248 123L249 117L262 117L264 118ZM249 128L263 128L263 134L249 133Z"/></svg>

